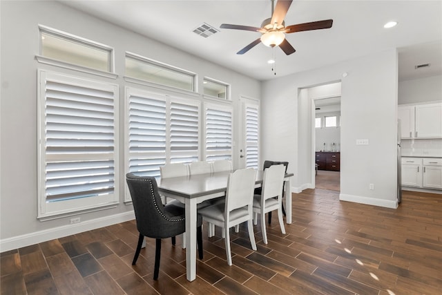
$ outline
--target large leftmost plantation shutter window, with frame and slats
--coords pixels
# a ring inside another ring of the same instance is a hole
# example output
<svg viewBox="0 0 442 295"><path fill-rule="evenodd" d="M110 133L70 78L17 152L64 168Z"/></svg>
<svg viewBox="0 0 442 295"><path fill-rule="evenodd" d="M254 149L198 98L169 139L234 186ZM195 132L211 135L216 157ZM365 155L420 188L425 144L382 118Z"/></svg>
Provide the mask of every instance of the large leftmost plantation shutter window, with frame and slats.
<svg viewBox="0 0 442 295"><path fill-rule="evenodd" d="M115 205L118 86L39 70L38 217Z"/></svg>

